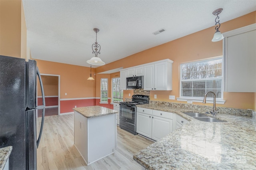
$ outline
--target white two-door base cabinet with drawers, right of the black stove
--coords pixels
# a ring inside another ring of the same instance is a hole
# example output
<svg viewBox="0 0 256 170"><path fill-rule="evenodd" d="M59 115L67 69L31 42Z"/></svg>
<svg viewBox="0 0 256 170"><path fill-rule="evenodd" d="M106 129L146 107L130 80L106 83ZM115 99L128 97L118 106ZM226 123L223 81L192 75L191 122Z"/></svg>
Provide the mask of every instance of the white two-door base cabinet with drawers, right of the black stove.
<svg viewBox="0 0 256 170"><path fill-rule="evenodd" d="M172 132L172 113L138 107L136 132L160 140Z"/></svg>

